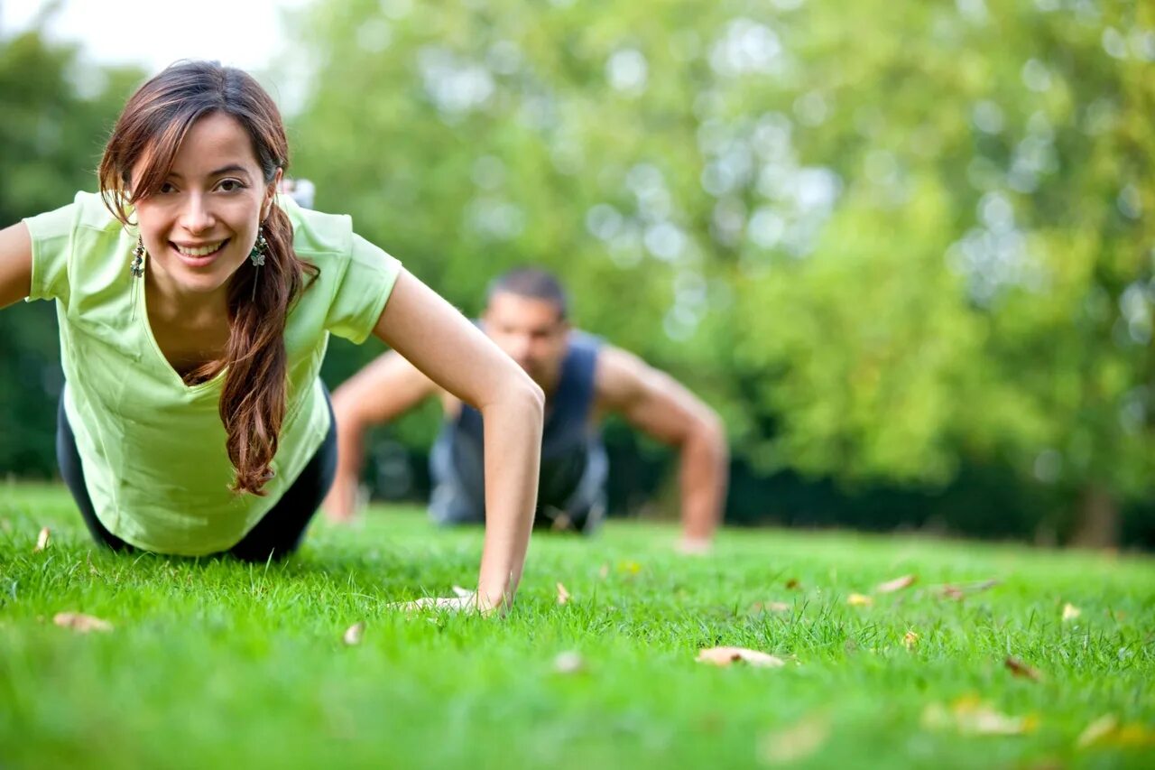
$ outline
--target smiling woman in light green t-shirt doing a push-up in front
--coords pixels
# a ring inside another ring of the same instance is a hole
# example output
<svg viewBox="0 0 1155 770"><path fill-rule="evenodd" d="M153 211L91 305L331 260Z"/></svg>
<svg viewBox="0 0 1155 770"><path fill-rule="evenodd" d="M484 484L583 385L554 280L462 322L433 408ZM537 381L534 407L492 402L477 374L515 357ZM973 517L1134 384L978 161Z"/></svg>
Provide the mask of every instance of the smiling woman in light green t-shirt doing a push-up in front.
<svg viewBox="0 0 1155 770"><path fill-rule="evenodd" d="M532 521L541 390L349 217L278 197L286 166L255 80L181 62L128 101L100 195L0 230L0 306L57 302L58 456L85 524L117 549L295 550L333 480L328 335L372 332L485 415L478 591L437 604L502 607Z"/></svg>

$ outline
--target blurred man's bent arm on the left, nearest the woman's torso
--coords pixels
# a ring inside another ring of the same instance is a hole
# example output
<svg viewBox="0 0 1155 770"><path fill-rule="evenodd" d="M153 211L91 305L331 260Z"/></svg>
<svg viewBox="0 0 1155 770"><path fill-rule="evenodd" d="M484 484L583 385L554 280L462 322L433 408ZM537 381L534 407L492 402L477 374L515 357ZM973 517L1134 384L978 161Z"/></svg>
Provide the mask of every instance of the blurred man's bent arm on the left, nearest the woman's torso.
<svg viewBox="0 0 1155 770"><path fill-rule="evenodd" d="M334 391L337 473L323 503L330 520L350 521L357 512L358 480L365 461L365 431L404 414L437 390L429 377L390 350Z"/></svg>

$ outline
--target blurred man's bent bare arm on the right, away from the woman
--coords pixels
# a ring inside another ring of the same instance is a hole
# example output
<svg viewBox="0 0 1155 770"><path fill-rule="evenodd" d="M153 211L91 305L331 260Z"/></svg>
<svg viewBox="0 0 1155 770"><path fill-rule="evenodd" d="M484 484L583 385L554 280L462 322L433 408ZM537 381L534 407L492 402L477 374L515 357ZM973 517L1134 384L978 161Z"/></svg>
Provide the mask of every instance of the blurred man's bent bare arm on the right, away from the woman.
<svg viewBox="0 0 1155 770"><path fill-rule="evenodd" d="M619 348L598 355L599 403L680 453L681 548L701 551L722 520L729 449L717 414L665 372Z"/></svg>

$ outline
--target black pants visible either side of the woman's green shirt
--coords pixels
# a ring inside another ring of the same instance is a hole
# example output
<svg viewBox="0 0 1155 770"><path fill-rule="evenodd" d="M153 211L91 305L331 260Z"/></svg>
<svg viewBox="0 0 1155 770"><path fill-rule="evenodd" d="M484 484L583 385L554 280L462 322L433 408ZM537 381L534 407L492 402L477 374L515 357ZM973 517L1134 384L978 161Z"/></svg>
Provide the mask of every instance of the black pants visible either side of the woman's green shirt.
<svg viewBox="0 0 1155 770"><path fill-rule="evenodd" d="M325 442L281 499L240 542L229 549L230 555L246 562L263 562L270 556L274 560L288 556L300 546L305 530L333 486L337 469L337 423L333 419L333 405L329 402L328 391L325 392L325 403L330 419ZM64 476L73 499L80 508L84 525L88 526L97 545L113 550L137 550L109 532L96 518L92 498L89 497L88 487L84 486L84 471L80 464L80 452L76 450L76 437L65 413L64 395L60 397L57 410L57 462L60 464L60 475Z"/></svg>

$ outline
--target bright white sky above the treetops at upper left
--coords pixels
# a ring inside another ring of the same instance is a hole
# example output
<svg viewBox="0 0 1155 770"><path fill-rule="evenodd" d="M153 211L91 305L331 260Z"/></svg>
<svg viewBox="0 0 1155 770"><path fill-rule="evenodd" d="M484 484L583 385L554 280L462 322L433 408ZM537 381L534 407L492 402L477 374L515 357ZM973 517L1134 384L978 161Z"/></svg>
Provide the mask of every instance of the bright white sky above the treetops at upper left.
<svg viewBox="0 0 1155 770"><path fill-rule="evenodd" d="M268 67L285 49L281 13L308 0L0 0L0 37L28 29L51 6L57 40L80 43L99 64L137 64L150 74L177 59Z"/></svg>

